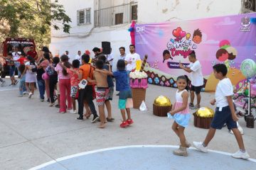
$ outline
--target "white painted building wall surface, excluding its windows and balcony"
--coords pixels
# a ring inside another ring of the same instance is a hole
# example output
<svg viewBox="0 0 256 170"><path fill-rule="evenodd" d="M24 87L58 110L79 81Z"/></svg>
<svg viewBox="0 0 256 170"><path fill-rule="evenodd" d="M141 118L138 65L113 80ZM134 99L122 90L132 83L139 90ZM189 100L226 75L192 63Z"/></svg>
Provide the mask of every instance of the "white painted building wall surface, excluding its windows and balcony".
<svg viewBox="0 0 256 170"><path fill-rule="evenodd" d="M78 50L85 52L93 47L101 47L102 41L110 41L112 52L117 62L119 47L124 46L129 52L130 35L129 24L94 28L94 11L98 8L108 8L122 4L129 4L132 0L60 0L65 11L72 19L70 34L62 30L51 30L50 50L53 55L60 55L68 50L71 58ZM137 23L159 23L165 21L188 21L197 18L225 16L238 14L241 7L240 0L137 0ZM91 23L77 25L77 11L91 8ZM93 56L93 54L91 55Z"/></svg>

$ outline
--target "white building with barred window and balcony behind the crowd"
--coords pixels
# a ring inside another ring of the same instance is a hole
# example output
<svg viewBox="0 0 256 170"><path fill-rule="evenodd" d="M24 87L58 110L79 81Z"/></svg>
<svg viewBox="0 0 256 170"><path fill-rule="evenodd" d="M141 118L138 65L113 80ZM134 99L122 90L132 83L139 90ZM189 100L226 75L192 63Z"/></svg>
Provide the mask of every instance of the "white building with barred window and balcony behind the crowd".
<svg viewBox="0 0 256 170"><path fill-rule="evenodd" d="M109 41L117 62L119 47L124 46L129 52L128 28L132 20L161 23L234 15L255 11L256 0L59 0L58 3L64 6L72 23L70 34L51 30L53 55L68 50L74 58L78 50L82 53L90 50L93 56L93 47Z"/></svg>

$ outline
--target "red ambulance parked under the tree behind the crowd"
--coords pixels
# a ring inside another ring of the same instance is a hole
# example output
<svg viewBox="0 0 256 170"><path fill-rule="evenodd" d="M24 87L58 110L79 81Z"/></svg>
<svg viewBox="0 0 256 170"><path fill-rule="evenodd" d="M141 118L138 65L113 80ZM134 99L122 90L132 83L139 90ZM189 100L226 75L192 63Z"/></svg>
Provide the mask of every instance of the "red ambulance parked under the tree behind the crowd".
<svg viewBox="0 0 256 170"><path fill-rule="evenodd" d="M0 53L2 53L4 57L6 57L10 52L14 52L15 47L18 47L18 51L24 52L26 54L30 50L31 46L36 48L36 44L33 39L6 38L6 40L4 40L4 42L2 42L0 46ZM6 77L6 75L9 75L9 66L6 62L0 71L1 78L4 78Z"/></svg>

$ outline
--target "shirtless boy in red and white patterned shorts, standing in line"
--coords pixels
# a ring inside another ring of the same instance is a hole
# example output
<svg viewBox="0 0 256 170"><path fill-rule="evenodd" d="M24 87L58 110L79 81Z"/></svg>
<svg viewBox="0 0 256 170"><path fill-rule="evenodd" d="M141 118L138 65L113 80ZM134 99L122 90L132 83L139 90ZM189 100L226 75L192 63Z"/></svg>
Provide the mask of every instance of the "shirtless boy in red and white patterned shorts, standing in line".
<svg viewBox="0 0 256 170"><path fill-rule="evenodd" d="M103 69L103 61L102 60L96 60L95 66L97 70ZM107 93L108 93L108 84L107 84L107 74L103 74L102 72L92 72L93 77L95 80L88 79L90 83L96 83L97 89L96 89L96 104L99 107L99 113L100 113L100 125L98 125L98 128L105 128L105 123L107 123L104 106L105 101L107 99Z"/></svg>

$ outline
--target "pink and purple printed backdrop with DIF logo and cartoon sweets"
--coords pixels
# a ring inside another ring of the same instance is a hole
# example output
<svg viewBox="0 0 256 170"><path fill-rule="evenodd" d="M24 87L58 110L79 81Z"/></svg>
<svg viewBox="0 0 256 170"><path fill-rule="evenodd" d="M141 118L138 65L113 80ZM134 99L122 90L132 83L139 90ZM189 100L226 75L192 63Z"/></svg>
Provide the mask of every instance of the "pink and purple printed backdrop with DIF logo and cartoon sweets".
<svg viewBox="0 0 256 170"><path fill-rule="evenodd" d="M193 21L137 24L135 46L142 60L149 55L145 71L150 84L176 87L176 77L186 74L178 67L189 64L188 54L195 50L201 62L206 91L215 91L218 80L213 65L224 63L234 87L245 79L240 64L256 59L256 13L204 18ZM163 52L171 56L164 60Z"/></svg>

